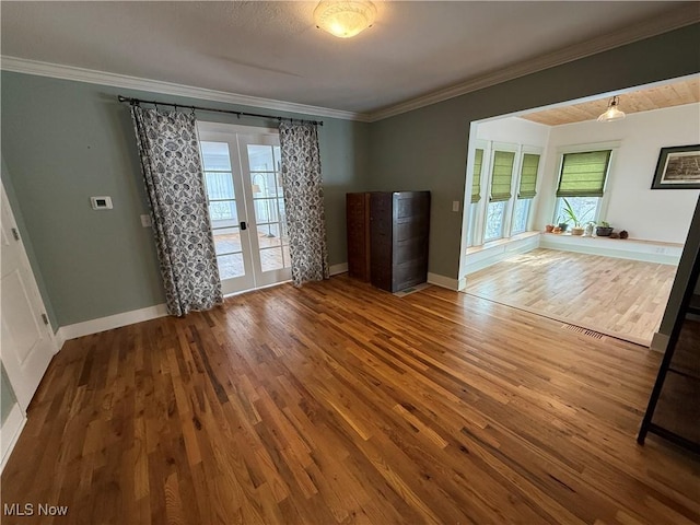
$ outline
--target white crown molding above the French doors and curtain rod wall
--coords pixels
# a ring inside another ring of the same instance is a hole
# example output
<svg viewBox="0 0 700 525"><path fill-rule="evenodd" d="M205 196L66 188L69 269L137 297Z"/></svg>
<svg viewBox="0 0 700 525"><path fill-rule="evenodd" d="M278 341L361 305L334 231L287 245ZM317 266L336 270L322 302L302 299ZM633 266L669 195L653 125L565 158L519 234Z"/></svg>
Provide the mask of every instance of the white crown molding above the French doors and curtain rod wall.
<svg viewBox="0 0 700 525"><path fill-rule="evenodd" d="M74 66L63 66L58 63L28 60L25 58L1 56L0 69L16 73L36 74L39 77L50 77L54 79L73 80L90 84L110 85L129 90L150 91L164 95L187 96L202 101L223 102L226 104L237 104L249 107L259 107L277 112L299 113L318 117L340 118L343 120L369 121L365 114L354 112L343 112L330 109L328 107L308 106L293 102L276 101L272 98L261 98L257 96L240 95L225 91L208 90L191 85L163 82L160 80L141 79L126 74L109 73L92 69L77 68Z"/></svg>

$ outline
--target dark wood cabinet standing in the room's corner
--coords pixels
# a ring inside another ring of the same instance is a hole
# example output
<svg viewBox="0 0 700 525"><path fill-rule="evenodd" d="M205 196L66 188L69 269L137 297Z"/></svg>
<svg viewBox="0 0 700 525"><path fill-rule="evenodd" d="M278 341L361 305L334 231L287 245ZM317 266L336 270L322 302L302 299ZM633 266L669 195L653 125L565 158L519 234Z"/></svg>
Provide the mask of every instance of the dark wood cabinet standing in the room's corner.
<svg viewBox="0 0 700 525"><path fill-rule="evenodd" d="M430 191L349 194L349 275L388 292L425 282L429 231Z"/></svg>

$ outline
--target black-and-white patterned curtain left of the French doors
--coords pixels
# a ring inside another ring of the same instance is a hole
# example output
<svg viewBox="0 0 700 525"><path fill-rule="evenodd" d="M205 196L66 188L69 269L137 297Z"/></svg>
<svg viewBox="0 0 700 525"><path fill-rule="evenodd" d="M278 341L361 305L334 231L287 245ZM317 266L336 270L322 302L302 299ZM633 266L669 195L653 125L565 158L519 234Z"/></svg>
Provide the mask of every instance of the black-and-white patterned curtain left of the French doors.
<svg viewBox="0 0 700 525"><path fill-rule="evenodd" d="M223 303L194 114L131 106L167 311Z"/></svg>

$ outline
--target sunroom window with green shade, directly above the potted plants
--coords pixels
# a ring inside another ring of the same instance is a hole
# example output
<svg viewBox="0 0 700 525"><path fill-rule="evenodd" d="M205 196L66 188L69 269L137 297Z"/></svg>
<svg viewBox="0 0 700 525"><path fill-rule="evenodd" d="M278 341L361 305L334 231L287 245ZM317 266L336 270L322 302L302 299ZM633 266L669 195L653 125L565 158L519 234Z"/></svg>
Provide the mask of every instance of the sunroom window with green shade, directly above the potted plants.
<svg viewBox="0 0 700 525"><path fill-rule="evenodd" d="M564 153L561 161L555 222L568 222L564 199L571 205L579 224L598 219L612 150Z"/></svg>

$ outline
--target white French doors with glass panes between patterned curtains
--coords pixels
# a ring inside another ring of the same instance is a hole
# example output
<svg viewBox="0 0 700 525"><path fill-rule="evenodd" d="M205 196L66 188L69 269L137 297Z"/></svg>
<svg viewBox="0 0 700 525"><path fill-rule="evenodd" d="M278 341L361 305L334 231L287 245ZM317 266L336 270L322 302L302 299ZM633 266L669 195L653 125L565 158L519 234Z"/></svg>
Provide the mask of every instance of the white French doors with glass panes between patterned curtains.
<svg viewBox="0 0 700 525"><path fill-rule="evenodd" d="M224 294L289 280L278 131L213 122L198 128Z"/></svg>

